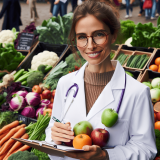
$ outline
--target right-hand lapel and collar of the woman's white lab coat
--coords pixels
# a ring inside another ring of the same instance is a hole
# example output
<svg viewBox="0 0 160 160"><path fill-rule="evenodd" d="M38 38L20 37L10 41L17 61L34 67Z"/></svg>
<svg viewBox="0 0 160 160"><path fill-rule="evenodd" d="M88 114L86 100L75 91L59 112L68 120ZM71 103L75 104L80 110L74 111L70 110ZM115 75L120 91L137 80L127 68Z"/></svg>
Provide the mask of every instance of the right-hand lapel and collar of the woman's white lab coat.
<svg viewBox="0 0 160 160"><path fill-rule="evenodd" d="M113 63L116 63L116 61L113 61ZM95 116L98 112L103 110L104 108L111 108L110 104L114 102L113 90L119 89L121 92L121 90L124 89L124 82L125 82L125 72L122 66L117 61L115 72L110 82L105 86L105 88L99 95L98 99L92 106L91 110L89 111L86 118L87 121L91 119L93 116Z"/></svg>

